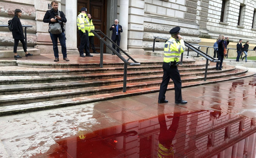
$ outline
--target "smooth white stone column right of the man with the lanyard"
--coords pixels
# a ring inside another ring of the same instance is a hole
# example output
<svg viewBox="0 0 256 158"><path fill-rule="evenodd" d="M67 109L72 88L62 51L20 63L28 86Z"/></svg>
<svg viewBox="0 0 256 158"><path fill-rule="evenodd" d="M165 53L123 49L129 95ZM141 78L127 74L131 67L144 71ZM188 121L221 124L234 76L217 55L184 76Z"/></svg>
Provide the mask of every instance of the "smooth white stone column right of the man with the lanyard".
<svg viewBox="0 0 256 158"><path fill-rule="evenodd" d="M125 51L127 50L127 37L128 37L128 9L129 0L120 0L119 23L122 25L123 32L121 33L120 47Z"/></svg>

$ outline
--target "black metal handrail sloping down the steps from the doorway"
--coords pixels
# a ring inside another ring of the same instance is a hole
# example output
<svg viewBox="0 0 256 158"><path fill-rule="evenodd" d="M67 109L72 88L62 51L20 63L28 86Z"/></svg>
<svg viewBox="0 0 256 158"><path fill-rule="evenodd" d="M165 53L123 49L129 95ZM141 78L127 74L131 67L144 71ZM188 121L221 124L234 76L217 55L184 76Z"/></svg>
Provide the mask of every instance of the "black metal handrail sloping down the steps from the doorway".
<svg viewBox="0 0 256 158"><path fill-rule="evenodd" d="M127 84L127 65L130 66L139 66L140 63L135 61L131 56L129 56L129 54L127 54L126 52L124 52L123 49L121 49L116 43L114 43L109 37L107 37L107 35L105 35L102 31L100 30L91 30L91 32L100 40L100 63L99 63L99 67L103 67L103 44L105 44L110 50L112 50L112 52L114 52L114 54L117 55L117 57L119 57L123 62L124 62L124 83L123 83L123 92L126 92L126 84ZM101 35L103 35L104 37L102 38L101 36L99 36L96 32L99 32ZM112 44L114 44L117 48L119 48L120 52L124 53L128 59L124 59L124 57L119 54L114 48L112 48L112 46L110 46L107 41L105 41L104 39L109 40ZM133 62L128 62L129 59L131 59Z"/></svg>

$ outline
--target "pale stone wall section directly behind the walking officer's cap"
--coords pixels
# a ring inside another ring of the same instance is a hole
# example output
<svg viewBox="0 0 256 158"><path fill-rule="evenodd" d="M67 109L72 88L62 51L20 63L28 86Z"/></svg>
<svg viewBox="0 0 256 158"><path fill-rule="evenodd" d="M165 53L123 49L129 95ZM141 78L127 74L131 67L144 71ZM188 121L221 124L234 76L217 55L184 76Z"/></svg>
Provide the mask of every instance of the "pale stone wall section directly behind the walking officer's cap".
<svg viewBox="0 0 256 158"><path fill-rule="evenodd" d="M184 40L199 43L199 25L196 22L197 0L145 0L143 49L152 51L154 37L169 39L169 31L176 26L181 27ZM164 40L157 39L155 50L164 49Z"/></svg>

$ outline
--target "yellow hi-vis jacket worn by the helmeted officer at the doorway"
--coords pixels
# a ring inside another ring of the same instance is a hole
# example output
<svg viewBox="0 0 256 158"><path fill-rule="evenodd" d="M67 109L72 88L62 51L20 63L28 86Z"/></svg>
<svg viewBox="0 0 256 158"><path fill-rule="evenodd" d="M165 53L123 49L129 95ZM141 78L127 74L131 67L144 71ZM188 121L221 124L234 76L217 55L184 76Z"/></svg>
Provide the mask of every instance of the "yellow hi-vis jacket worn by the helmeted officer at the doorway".
<svg viewBox="0 0 256 158"><path fill-rule="evenodd" d="M84 33L86 30L88 32L90 31L90 23L86 13L80 12L80 14L77 16L77 27L78 30L82 30Z"/></svg>

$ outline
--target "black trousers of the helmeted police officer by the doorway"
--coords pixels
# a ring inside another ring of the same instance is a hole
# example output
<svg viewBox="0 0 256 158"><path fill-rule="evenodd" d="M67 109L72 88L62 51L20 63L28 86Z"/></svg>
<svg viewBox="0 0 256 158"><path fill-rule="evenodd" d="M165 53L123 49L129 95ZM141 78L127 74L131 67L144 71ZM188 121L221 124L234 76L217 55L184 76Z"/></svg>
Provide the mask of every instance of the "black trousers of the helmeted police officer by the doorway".
<svg viewBox="0 0 256 158"><path fill-rule="evenodd" d="M83 33L81 30L79 30L78 33L79 33L79 36L81 39L80 47L79 47L79 54L80 55L84 54L84 49L85 49L85 54L90 54L88 32Z"/></svg>

